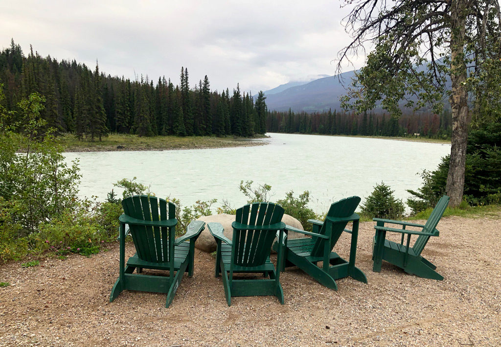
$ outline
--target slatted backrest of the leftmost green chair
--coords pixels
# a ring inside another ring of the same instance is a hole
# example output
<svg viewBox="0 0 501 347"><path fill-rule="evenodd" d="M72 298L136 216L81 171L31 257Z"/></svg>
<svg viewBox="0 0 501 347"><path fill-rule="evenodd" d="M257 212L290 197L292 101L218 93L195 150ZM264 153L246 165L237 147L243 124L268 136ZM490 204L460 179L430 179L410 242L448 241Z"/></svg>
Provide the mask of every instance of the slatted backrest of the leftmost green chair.
<svg viewBox="0 0 501 347"><path fill-rule="evenodd" d="M144 221L165 221L175 218L175 205L164 199L146 195L122 200L124 213ZM172 217L171 217L172 216ZM169 244L174 242L175 228L129 225L139 259L153 263L167 263Z"/></svg>

